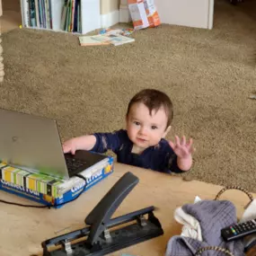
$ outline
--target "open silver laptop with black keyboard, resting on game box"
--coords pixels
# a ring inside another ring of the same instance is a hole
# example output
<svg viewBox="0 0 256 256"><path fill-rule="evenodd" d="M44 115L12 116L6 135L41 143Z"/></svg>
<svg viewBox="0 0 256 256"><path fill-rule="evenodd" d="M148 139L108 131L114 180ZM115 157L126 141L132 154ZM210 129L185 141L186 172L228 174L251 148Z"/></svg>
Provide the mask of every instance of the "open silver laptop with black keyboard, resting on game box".
<svg viewBox="0 0 256 256"><path fill-rule="evenodd" d="M88 151L63 154L56 120L0 109L0 160L5 163L68 180L106 158Z"/></svg>

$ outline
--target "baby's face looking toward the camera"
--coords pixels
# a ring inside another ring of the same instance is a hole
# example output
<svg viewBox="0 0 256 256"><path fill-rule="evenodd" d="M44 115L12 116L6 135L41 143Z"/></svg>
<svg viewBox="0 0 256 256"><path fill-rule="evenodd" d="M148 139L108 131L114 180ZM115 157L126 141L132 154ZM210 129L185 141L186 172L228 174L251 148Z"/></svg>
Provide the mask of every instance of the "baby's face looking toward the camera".
<svg viewBox="0 0 256 256"><path fill-rule="evenodd" d="M165 137L167 116L163 108L157 112L149 110L143 103L131 106L127 117L127 131L129 139L141 148L155 146Z"/></svg>

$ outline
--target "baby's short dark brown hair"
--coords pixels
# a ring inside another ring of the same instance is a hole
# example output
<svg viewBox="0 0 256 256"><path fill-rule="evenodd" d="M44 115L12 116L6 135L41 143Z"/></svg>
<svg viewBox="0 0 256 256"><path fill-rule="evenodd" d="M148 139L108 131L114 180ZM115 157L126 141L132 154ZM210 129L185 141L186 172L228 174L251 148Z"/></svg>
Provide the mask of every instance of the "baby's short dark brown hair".
<svg viewBox="0 0 256 256"><path fill-rule="evenodd" d="M144 103L148 108L150 115L152 115L152 110L157 112L163 107L163 110L167 116L166 128L171 125L173 118L173 107L172 101L167 94L154 89L145 89L138 92L128 103L127 116L131 106L135 103Z"/></svg>

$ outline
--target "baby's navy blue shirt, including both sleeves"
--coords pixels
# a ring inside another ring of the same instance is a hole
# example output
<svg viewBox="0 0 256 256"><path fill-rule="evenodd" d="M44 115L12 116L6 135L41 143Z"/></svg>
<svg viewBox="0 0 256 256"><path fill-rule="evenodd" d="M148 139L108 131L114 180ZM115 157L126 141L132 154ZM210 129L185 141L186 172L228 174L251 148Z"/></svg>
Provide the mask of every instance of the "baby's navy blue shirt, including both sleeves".
<svg viewBox="0 0 256 256"><path fill-rule="evenodd" d="M119 163L126 163L157 172L183 172L177 165L177 155L168 141L161 139L158 145L147 147L141 154L132 153L133 143L124 129L113 133L94 133L96 144L92 151L105 153L111 150L117 154Z"/></svg>

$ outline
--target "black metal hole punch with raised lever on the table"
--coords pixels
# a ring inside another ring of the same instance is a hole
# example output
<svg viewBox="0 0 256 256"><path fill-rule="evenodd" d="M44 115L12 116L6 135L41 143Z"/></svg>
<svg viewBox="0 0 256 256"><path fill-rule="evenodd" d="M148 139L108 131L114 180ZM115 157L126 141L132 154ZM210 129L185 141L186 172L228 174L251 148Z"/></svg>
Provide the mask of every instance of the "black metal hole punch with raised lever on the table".
<svg viewBox="0 0 256 256"><path fill-rule="evenodd" d="M138 181L124 174L86 216L84 228L41 243L43 256L100 256L162 235L153 206L111 218Z"/></svg>

